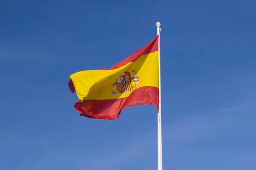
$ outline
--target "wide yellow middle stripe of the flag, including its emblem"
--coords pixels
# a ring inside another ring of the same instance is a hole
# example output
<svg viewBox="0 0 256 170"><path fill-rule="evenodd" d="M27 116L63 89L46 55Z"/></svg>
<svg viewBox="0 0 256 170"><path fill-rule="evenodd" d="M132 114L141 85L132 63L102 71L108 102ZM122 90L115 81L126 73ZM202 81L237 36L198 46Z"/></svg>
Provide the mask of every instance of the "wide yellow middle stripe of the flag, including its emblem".
<svg viewBox="0 0 256 170"><path fill-rule="evenodd" d="M81 100L119 99L141 87L158 88L158 51L113 70L80 71L70 78Z"/></svg>

